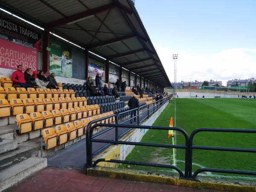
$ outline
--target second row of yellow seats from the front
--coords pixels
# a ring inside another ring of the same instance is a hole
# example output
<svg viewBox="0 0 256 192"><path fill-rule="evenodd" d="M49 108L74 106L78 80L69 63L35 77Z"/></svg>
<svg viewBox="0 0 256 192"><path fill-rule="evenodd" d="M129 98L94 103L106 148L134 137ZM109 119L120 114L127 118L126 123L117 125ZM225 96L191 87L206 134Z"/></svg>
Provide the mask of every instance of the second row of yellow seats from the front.
<svg viewBox="0 0 256 192"><path fill-rule="evenodd" d="M89 105L87 105L89 107ZM90 117L100 114L99 107L87 109L86 106L81 108L56 109L52 111L42 111L34 113L22 113L16 115L16 124L20 134L27 133L41 128L47 128L52 125L74 121L77 119Z"/></svg>

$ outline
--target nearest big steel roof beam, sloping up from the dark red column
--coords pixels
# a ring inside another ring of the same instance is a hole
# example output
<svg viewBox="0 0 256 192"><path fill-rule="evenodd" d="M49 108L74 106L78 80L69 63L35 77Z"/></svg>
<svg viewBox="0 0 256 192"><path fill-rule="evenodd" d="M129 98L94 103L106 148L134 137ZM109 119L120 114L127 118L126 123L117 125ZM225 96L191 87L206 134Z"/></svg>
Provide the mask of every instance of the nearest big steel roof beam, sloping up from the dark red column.
<svg viewBox="0 0 256 192"><path fill-rule="evenodd" d="M84 17L88 17L90 15L95 15L95 14L98 14L98 13L101 13L101 12L105 12L109 9L113 9L113 8L118 8L128 14L132 14L133 11L120 4L120 3L109 3L107 5L104 5L104 6L100 6L100 7L97 7L97 8L94 8L94 9L90 9L90 10L87 10L87 11L84 11L84 12L80 12L78 14L74 14L74 15L70 15L69 17L64 17L64 18L61 18L61 19L58 19L58 20L55 20L55 21L52 21L52 22L49 22L45 25L45 28L46 29L52 29L54 27L57 27L57 26L61 26L61 25L64 25L66 23L70 23L72 21L75 21L75 20L78 20L78 19L81 19L81 18L84 18Z"/></svg>

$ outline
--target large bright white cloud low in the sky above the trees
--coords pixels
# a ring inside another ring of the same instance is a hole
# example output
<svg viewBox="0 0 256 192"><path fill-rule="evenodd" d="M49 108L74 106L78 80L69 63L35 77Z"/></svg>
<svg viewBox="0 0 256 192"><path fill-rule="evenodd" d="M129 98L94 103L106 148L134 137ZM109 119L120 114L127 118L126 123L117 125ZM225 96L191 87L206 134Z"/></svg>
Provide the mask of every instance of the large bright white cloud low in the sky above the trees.
<svg viewBox="0 0 256 192"><path fill-rule="evenodd" d="M219 80L226 85L231 79L256 78L256 49L226 49L212 55L195 55L186 50L172 50L154 44L157 54L171 82L174 81L174 61L172 54L179 54L177 59L177 82Z"/></svg>

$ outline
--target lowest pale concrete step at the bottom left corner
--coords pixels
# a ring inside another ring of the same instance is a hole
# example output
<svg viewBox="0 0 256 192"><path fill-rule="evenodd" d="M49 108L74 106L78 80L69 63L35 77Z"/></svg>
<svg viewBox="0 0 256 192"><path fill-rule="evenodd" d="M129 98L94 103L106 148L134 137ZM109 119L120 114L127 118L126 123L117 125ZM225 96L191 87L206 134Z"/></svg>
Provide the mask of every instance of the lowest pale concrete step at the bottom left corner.
<svg viewBox="0 0 256 192"><path fill-rule="evenodd" d="M47 159L30 157L0 171L0 191L6 190L33 173L47 167Z"/></svg>

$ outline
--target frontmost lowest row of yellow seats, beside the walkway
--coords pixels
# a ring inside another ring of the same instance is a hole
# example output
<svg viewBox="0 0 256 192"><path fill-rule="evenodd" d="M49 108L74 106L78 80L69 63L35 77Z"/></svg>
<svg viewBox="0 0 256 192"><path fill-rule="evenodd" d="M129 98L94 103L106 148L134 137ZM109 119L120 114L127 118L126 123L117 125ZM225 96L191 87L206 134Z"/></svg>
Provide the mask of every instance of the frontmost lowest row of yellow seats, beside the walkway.
<svg viewBox="0 0 256 192"><path fill-rule="evenodd" d="M80 137L83 134L85 134L87 125L90 121L96 120L96 119L101 119L106 116L111 116L113 115L113 111L110 113L103 113L99 115L95 115L92 117L84 118L81 120L76 120L74 122L68 122L65 124L61 125L56 125L55 130L53 128L46 128L43 129L42 134L43 134L43 140L44 143L47 144L45 149L49 150L51 148L56 147L57 145L62 145L64 143L67 143L68 141L72 141L76 139L76 137ZM115 123L115 119L113 117L110 117L105 120L101 120L97 123L106 123L106 124L111 124ZM96 123L93 123L94 125Z"/></svg>

